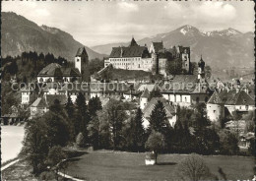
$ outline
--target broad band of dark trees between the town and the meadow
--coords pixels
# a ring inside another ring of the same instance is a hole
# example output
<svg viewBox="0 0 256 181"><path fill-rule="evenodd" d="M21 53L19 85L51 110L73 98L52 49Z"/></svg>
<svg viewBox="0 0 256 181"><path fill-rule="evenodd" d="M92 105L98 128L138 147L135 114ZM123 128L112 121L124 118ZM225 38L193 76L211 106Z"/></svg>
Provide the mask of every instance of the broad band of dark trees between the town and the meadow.
<svg viewBox="0 0 256 181"><path fill-rule="evenodd" d="M154 151L200 154L236 154L237 137L219 125L211 125L205 105L194 109L177 106L172 128L162 102L158 101L144 129L143 112L132 102L109 99L102 107L98 97L88 103L79 93L75 103L68 97L65 106L56 99L43 116L28 122L22 154L29 155L33 172L47 167L49 152L56 147L93 146L95 150Z"/></svg>

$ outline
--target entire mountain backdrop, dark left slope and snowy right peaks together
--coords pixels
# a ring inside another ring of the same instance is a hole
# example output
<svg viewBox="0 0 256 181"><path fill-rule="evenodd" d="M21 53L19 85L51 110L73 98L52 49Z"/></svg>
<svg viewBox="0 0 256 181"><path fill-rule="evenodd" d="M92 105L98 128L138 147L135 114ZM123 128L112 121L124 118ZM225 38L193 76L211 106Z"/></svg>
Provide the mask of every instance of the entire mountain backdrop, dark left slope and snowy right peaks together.
<svg viewBox="0 0 256 181"><path fill-rule="evenodd" d="M38 26L23 16L2 12L1 54L20 55L23 51L52 53L73 61L79 47L84 46L63 30ZM167 49L173 45L190 46L191 61L203 56L207 65L215 68L254 67L254 33L234 29L202 31L186 25L166 33L137 40L140 45L162 41ZM85 46L90 59L102 59L112 47L127 46L129 42Z"/></svg>

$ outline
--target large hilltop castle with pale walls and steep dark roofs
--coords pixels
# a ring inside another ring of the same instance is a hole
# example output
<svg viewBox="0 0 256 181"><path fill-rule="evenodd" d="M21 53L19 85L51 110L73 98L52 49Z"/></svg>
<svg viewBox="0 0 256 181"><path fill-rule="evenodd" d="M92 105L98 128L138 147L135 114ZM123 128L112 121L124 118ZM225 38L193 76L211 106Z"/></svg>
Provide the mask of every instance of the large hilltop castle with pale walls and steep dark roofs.
<svg viewBox="0 0 256 181"><path fill-rule="evenodd" d="M113 47L108 59L104 60L104 67L110 64L115 69L143 70L166 76L166 62L179 59L182 69L190 73L190 47L173 46L165 49L163 43L152 42L150 49L140 46L134 38L127 47Z"/></svg>

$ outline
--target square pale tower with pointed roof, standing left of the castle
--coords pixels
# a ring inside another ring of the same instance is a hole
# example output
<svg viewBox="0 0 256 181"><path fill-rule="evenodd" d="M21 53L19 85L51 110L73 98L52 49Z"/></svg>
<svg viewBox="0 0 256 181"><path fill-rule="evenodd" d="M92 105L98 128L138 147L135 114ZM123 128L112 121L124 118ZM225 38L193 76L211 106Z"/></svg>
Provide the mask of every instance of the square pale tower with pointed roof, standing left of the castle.
<svg viewBox="0 0 256 181"><path fill-rule="evenodd" d="M90 82L90 72L89 72L89 57L85 47L78 49L75 56L75 68L77 68L81 74L83 82Z"/></svg>

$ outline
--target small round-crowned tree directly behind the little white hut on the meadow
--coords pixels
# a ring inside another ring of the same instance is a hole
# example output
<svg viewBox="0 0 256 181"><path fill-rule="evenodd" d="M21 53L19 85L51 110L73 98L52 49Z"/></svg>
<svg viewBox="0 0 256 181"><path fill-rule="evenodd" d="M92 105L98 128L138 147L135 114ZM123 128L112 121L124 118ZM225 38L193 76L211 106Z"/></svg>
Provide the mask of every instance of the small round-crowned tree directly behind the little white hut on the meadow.
<svg viewBox="0 0 256 181"><path fill-rule="evenodd" d="M160 132L153 131L146 142L146 148L154 151L156 163L159 152L164 149L164 145L165 141L163 135Z"/></svg>

